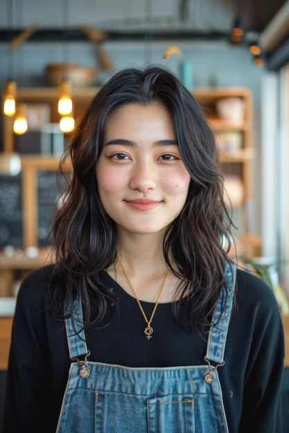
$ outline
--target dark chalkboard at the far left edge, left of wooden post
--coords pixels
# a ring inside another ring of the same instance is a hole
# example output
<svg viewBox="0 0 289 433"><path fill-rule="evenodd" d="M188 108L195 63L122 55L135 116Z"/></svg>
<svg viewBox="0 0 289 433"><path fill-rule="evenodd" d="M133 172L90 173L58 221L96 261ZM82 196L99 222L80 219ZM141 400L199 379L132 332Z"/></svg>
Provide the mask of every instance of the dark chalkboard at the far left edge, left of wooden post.
<svg viewBox="0 0 289 433"><path fill-rule="evenodd" d="M0 248L23 247L21 174L0 175Z"/></svg>

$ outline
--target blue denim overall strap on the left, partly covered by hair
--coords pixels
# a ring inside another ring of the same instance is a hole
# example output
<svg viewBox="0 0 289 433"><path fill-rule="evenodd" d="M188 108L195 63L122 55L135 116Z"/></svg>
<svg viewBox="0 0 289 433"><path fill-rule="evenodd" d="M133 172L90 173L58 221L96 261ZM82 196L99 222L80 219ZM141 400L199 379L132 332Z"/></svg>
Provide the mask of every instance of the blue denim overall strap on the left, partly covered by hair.
<svg viewBox="0 0 289 433"><path fill-rule="evenodd" d="M67 342L69 347L70 358L79 358L87 354L87 344L85 342L85 331L83 328L83 316L81 302L76 298L74 301L75 309L73 311L73 320L71 315L65 319L65 328L67 331ZM65 313L70 313L71 304L67 304Z"/></svg>

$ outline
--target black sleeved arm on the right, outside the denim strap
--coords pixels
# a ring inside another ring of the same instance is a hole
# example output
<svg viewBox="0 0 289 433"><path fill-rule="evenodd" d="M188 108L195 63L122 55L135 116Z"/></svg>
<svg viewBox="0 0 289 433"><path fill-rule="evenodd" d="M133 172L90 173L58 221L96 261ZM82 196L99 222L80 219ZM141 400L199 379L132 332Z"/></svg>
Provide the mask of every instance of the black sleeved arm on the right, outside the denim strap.
<svg viewBox="0 0 289 433"><path fill-rule="evenodd" d="M232 425L238 420L240 408L240 431L277 431L274 413L283 358L283 326L274 293L263 279L238 268L236 299L227 333L227 368L220 369L220 377Z"/></svg>

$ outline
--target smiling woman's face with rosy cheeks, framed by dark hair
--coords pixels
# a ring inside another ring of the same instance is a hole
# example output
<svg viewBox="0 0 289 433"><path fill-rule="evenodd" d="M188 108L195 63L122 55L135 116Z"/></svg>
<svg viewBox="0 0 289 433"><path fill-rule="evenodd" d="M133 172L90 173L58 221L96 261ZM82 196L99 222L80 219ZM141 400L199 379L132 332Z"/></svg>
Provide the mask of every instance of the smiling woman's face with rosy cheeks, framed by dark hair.
<svg viewBox="0 0 289 433"><path fill-rule="evenodd" d="M181 212L191 177L161 104L129 104L107 122L96 169L98 193L118 230L163 232Z"/></svg>

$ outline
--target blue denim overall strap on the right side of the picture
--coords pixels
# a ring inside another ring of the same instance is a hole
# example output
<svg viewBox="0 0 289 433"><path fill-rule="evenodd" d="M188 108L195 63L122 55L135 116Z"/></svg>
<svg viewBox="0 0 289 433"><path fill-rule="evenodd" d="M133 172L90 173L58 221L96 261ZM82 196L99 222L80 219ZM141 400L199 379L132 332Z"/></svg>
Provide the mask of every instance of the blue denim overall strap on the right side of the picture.
<svg viewBox="0 0 289 433"><path fill-rule="evenodd" d="M220 365L222 365L222 363L224 362L227 332L229 328L231 309L234 300L234 291L236 284L235 264L229 264L228 262L226 263L225 276L227 279L227 288L225 288L225 286L222 286L222 290L220 292L215 313L213 315L211 330L209 331L206 353L207 360ZM216 326L213 326L213 324L216 322L218 322L218 324Z"/></svg>

